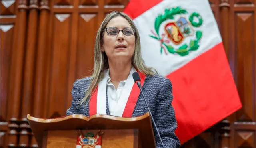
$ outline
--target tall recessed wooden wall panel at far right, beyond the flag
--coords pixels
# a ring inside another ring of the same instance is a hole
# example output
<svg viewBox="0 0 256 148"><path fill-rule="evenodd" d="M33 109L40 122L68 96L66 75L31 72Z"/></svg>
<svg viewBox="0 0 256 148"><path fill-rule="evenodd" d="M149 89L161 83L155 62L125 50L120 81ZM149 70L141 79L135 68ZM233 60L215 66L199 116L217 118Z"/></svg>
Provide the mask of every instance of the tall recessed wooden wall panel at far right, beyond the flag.
<svg viewBox="0 0 256 148"><path fill-rule="evenodd" d="M243 104L243 108L236 112L237 121L255 122L256 112L254 110L253 98L253 58L252 54L255 46L252 44L254 33L244 29L244 26L254 30L254 15L252 13L235 14L235 51L237 54L237 83L238 92Z"/></svg>

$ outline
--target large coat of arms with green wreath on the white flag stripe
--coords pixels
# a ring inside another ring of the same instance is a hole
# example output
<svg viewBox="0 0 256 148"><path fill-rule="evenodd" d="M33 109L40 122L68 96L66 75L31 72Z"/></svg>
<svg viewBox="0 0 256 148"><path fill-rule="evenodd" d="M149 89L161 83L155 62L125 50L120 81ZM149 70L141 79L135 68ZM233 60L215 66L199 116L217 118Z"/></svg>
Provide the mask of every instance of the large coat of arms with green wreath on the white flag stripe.
<svg viewBox="0 0 256 148"><path fill-rule="evenodd" d="M176 21L168 22L164 25L164 33L159 35L160 25L166 20L174 20L174 16L188 14L185 9L180 7L166 9L164 14L158 15L155 20L155 32L151 30L154 36L150 35L154 39L157 39L161 43L160 52L164 51L165 54L172 53L178 54L181 56L185 56L189 54L189 51L195 51L199 48L200 39L202 38L202 31L197 30L202 25L203 20L200 14L197 12L193 12L190 14L188 19L184 16L180 16ZM197 19L197 21L195 20ZM196 34L196 37L193 39L193 35ZM167 37L167 39L166 39ZM183 43L186 37L191 37L189 44ZM180 45L177 49L173 47L173 45Z"/></svg>

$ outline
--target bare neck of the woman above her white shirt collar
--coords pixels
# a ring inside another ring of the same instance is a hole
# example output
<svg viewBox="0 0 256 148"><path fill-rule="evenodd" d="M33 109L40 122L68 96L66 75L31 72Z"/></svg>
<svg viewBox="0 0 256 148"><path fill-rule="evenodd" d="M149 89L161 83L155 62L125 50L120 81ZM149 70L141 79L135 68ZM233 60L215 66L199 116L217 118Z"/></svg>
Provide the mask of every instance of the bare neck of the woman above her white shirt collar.
<svg viewBox="0 0 256 148"><path fill-rule="evenodd" d="M130 74L132 68L132 61L127 62L111 62L108 61L109 65L109 76L112 83L119 83L120 81L126 80Z"/></svg>

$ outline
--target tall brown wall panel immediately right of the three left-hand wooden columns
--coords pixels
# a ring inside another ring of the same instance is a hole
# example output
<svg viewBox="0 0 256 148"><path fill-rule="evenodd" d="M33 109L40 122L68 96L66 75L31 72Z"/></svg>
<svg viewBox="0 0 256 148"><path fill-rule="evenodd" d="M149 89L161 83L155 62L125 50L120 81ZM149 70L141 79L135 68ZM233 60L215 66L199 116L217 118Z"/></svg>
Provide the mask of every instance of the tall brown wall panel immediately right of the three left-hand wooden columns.
<svg viewBox="0 0 256 148"><path fill-rule="evenodd" d="M50 117L63 116L66 113L72 19L72 14L55 14L52 20L52 68L48 104Z"/></svg>

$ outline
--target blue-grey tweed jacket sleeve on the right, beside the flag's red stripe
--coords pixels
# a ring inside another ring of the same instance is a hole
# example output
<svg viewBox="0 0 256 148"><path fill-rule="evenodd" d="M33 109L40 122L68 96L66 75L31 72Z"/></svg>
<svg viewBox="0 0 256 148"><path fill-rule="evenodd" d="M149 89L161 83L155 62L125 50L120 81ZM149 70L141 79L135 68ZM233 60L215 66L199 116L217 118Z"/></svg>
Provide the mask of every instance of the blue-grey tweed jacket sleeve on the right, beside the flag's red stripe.
<svg viewBox="0 0 256 148"><path fill-rule="evenodd" d="M177 128L177 121L174 108L172 107L172 99L172 83L166 78L164 83L161 83L161 89L157 97L154 120L164 146L166 148L179 148L180 140L174 133ZM156 148L162 148L162 144L158 138L155 128L154 134Z"/></svg>

